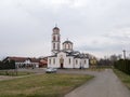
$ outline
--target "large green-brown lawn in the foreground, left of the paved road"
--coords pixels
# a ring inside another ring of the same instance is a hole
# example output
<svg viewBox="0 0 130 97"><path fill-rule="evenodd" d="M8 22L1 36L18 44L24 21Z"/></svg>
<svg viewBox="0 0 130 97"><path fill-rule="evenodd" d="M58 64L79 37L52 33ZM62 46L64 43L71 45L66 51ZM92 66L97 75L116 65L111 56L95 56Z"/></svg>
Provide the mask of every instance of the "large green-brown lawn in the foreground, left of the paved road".
<svg viewBox="0 0 130 97"><path fill-rule="evenodd" d="M0 97L64 97L92 78L51 73L0 81Z"/></svg>

